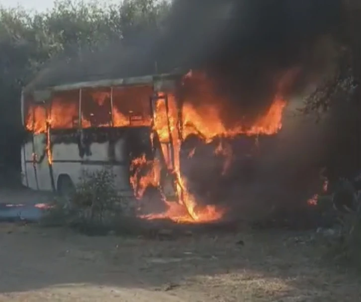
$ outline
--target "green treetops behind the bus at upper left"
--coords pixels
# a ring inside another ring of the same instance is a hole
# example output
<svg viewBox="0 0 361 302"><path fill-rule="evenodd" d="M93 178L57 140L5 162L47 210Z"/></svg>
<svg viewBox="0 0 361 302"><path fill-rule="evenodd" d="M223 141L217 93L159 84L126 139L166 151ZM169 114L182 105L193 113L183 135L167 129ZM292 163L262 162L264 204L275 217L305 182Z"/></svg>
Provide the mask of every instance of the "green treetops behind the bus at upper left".
<svg viewBox="0 0 361 302"><path fill-rule="evenodd" d="M126 42L141 29L158 27L169 6L169 1L159 0L60 0L45 12L0 7L2 126L20 128L21 88L48 62Z"/></svg>

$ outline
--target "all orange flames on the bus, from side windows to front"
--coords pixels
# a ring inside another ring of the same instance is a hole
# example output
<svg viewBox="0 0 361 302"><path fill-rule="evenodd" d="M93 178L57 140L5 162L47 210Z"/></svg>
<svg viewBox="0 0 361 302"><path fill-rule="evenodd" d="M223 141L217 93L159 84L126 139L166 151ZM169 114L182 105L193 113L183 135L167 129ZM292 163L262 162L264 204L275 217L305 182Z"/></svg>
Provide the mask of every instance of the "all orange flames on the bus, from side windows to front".
<svg viewBox="0 0 361 302"><path fill-rule="evenodd" d="M229 127L222 119L217 106L225 100L215 93L212 83L203 74L190 72L184 76L184 80L192 80L192 78L197 79L198 90L202 93L185 94L179 108L175 95L158 92L159 99L153 117L149 114L149 96L153 93L152 87L149 86L84 92L90 97L83 95L81 121L79 121L79 91L74 91L71 97L54 96L50 108L30 105L25 121L26 128L39 134L47 133L50 129L77 128L80 123L83 128L153 125L152 138L154 134L159 137L161 153L168 175L174 181L173 187L176 188L179 203L167 201L165 192L161 192L167 210L162 214L142 217L169 218L176 222L193 223L218 221L225 215L226 209L198 203L196 196L190 192L188 180L181 175L181 142L190 135L201 138L207 144L215 138L232 138L240 134L273 135L282 127L282 112L286 102L282 97L282 91L279 91L274 95L269 109L257 117L252 125L246 127L239 124ZM196 102L194 98L197 99ZM50 139L47 140L46 151L49 163L52 163ZM191 157L194 151L194 149L190 151L188 156ZM222 175L226 175L232 164L231 146L221 140L214 154L224 158ZM150 186L162 190L160 158L150 161L142 155L132 161L130 168L132 172L130 183L138 199L143 198L146 189Z"/></svg>

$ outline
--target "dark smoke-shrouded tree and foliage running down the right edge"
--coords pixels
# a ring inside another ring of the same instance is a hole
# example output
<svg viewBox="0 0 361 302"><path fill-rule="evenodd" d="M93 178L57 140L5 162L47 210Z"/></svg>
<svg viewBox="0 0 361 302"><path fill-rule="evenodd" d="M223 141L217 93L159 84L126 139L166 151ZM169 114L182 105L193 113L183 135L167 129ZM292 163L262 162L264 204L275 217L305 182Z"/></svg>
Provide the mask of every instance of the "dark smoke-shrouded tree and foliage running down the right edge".
<svg viewBox="0 0 361 302"><path fill-rule="evenodd" d="M331 36L336 51L333 68L303 108L306 114L328 112L331 117L327 161L333 179L361 170L361 1L343 0L342 5L341 27Z"/></svg>

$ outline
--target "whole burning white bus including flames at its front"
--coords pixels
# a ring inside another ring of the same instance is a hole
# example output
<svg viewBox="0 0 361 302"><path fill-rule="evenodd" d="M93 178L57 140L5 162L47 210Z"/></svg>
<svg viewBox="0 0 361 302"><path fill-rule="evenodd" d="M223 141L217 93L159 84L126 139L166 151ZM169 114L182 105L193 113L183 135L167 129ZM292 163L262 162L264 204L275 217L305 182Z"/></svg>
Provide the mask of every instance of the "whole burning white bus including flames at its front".
<svg viewBox="0 0 361 302"><path fill-rule="evenodd" d="M237 148L228 139L242 136L244 158L255 156L260 136L281 129L286 105L276 93L252 124L230 126L217 108L219 98L207 75L193 71L25 89L23 184L67 194L82 171L107 167L120 194L142 199L149 187L161 193L167 210L152 217L218 220L224 209L202 205L192 190L196 170L189 160L203 148L200 161L209 155L203 165L219 163L213 172L224 177ZM211 146L208 155L204 146Z"/></svg>

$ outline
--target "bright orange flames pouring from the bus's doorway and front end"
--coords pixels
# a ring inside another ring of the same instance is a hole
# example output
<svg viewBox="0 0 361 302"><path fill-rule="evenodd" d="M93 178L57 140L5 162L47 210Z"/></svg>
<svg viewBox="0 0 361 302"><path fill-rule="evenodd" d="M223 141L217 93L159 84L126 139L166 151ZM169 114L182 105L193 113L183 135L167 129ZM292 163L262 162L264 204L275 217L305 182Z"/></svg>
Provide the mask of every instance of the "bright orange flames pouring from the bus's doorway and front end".
<svg viewBox="0 0 361 302"><path fill-rule="evenodd" d="M148 219L169 218L176 222L214 222L221 220L226 209L217 208L216 206L201 206L197 203L196 197L190 193L187 179L181 175L180 163L180 144L181 139L186 139L189 135L196 135L200 137L205 143L212 142L217 137L234 137L239 134L244 135L273 135L277 133L282 127L282 112L286 102L281 97L280 93L274 96L271 107L268 111L259 116L251 127L244 127L237 125L233 128L227 128L224 121L220 117L219 108L214 104L222 103L222 100L214 99L216 94L213 93L212 85L207 79L199 74L189 73L185 77L191 78L197 76L201 81L201 95L197 97L202 98L198 101L200 105L194 106L191 100L184 99L181 108L181 121L179 120L179 112L175 96L168 93L159 93L160 100L157 102L156 113L154 117L154 130L158 134L162 145L163 154L165 154L165 161L168 169L175 175L176 187L180 203L164 201L167 205L167 211L163 214L151 214L145 216ZM162 97L162 95L164 95ZM192 96L190 96L192 97ZM166 98L168 99L168 110L166 108ZM210 99L213 98L213 99ZM182 130L182 131L180 131ZM170 138L171 135L171 138ZM174 149L174 160L172 161L172 154L168 150L168 145L172 144ZM189 157L194 154L194 149L189 153ZM227 173L228 168L232 162L233 151L231 146L219 143L214 151L216 155L224 157L224 165L222 175ZM139 158L134 160L139 162ZM174 162L174 163L173 163ZM149 184L154 184L149 175L145 175L141 180L141 187L144 187L148 180ZM144 192L142 189L141 192ZM142 197L142 194L137 196Z"/></svg>

